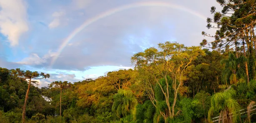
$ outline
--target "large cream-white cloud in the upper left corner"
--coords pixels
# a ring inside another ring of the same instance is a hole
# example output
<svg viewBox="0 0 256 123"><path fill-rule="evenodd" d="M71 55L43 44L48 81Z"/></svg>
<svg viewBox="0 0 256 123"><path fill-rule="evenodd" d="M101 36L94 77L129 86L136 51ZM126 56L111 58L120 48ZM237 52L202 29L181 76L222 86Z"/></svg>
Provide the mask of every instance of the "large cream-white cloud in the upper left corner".
<svg viewBox="0 0 256 123"><path fill-rule="evenodd" d="M23 0L0 0L0 33L8 37L10 46L28 31L27 12Z"/></svg>

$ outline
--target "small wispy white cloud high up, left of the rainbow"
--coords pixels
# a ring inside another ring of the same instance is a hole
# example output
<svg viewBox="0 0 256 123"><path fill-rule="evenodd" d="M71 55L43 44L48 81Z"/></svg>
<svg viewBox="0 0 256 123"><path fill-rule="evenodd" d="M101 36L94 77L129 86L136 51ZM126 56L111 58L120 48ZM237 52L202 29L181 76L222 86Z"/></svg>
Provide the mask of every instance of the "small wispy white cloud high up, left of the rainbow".
<svg viewBox="0 0 256 123"><path fill-rule="evenodd" d="M50 24L48 25L48 27L50 29L58 27L60 25L60 18L63 17L65 15L64 11L60 11L60 12L54 12L52 14L52 16L54 17L53 21L50 22Z"/></svg>

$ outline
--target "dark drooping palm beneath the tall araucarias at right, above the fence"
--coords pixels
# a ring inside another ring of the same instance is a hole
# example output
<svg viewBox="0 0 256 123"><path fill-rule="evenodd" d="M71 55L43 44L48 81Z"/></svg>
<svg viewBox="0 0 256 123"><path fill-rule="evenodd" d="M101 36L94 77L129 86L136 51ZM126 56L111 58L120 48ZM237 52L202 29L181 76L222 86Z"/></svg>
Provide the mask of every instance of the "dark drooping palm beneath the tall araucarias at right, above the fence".
<svg viewBox="0 0 256 123"><path fill-rule="evenodd" d="M225 65L225 69L222 72L223 82L229 81L230 84L236 84L238 78L246 80L245 71L238 68L238 66L242 65L245 61L246 58L244 56L236 58L233 53L228 53L228 59L221 60L221 64Z"/></svg>

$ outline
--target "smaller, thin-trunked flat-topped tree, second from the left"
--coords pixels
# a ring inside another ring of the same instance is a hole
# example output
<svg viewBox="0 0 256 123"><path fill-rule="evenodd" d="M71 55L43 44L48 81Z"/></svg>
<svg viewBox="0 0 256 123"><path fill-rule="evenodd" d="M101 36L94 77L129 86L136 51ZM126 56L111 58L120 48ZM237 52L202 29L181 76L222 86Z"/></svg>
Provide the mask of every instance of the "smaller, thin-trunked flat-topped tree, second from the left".
<svg viewBox="0 0 256 123"><path fill-rule="evenodd" d="M50 87L60 88L60 116L61 116L61 95L62 95L62 89L68 88L71 86L71 83L68 83L68 81L55 81L50 84Z"/></svg>

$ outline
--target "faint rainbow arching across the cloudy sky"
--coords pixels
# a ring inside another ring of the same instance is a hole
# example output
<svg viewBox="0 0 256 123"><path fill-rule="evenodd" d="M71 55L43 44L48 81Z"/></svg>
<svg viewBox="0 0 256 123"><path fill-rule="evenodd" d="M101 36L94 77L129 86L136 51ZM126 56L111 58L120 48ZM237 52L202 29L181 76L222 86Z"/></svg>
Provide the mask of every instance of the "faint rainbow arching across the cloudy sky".
<svg viewBox="0 0 256 123"><path fill-rule="evenodd" d="M113 8L111 10L105 11L103 13L98 14L95 17L92 17L90 19L87 19L85 22L83 22L82 25L80 25L80 27L76 28L64 41L63 43L60 45L60 48L58 49L57 53L55 54L55 56L52 58L50 66L52 66L55 61L58 59L60 53L63 51L63 49L65 48L65 46L68 44L68 42L74 38L74 36L76 34L78 34L80 31L82 31L85 27L87 27L90 24L93 24L94 22L98 21L99 19L103 19L105 17L108 17L112 14L115 14L117 12L121 12L123 10L128 10L131 8L136 8L136 7L170 7L172 9L177 9L177 10L182 10L184 12L188 12L190 14L195 15L196 17L199 17L201 19L206 19L206 17L204 17L202 14L199 14L198 12L195 12L193 10L190 10L186 7L183 7L181 5L176 5L176 4L171 4L168 2L136 2L133 4L129 4L129 5L124 5L124 6L120 6L120 7L116 7Z"/></svg>

